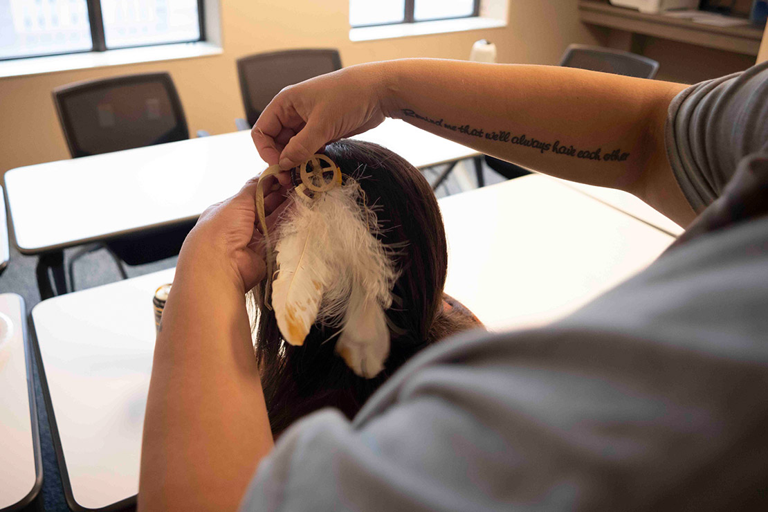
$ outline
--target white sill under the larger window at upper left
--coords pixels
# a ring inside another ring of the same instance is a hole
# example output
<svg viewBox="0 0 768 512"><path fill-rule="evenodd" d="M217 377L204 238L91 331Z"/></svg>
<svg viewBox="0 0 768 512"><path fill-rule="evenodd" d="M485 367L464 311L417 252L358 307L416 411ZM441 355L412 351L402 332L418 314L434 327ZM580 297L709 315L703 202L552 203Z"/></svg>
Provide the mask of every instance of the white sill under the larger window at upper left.
<svg viewBox="0 0 768 512"><path fill-rule="evenodd" d="M31 74L55 73L74 69L103 68L140 62L172 61L178 58L220 55L222 49L210 42L179 43L176 45L144 46L121 50L90 51L69 55L19 58L0 61L0 78L22 77Z"/></svg>

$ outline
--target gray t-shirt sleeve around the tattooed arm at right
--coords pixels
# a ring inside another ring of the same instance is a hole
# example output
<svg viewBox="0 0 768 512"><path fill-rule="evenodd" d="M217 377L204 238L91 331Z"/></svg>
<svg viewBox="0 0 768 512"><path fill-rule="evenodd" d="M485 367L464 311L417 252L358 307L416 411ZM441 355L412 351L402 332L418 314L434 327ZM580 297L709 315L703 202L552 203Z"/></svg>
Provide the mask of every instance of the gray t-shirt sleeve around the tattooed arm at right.
<svg viewBox="0 0 768 512"><path fill-rule="evenodd" d="M667 157L690 206L709 206L739 161L768 150L768 61L703 81L671 102Z"/></svg>

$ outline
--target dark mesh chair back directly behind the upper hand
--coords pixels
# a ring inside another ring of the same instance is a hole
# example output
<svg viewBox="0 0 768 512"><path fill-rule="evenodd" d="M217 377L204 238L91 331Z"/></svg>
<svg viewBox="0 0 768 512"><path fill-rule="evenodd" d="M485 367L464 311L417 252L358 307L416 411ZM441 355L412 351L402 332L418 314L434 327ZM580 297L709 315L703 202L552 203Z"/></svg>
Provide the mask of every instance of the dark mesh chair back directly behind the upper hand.
<svg viewBox="0 0 768 512"><path fill-rule="evenodd" d="M283 88L339 69L338 50L274 51L239 59L237 74L248 124L256 123Z"/></svg>

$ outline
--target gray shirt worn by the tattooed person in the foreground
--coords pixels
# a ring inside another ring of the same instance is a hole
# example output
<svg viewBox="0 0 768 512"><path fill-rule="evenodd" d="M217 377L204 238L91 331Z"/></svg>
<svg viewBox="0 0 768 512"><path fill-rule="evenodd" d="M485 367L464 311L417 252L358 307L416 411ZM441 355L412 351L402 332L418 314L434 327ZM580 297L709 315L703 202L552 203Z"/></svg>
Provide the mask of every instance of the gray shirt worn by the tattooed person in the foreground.
<svg viewBox="0 0 768 512"><path fill-rule="evenodd" d="M764 147L765 70L698 84L670 106L670 161L697 209L733 160ZM729 142L707 146L713 126ZM752 164L768 172L768 159ZM325 410L294 424L242 508L765 508L766 432L763 217L687 241L554 325L426 349L353 422Z"/></svg>

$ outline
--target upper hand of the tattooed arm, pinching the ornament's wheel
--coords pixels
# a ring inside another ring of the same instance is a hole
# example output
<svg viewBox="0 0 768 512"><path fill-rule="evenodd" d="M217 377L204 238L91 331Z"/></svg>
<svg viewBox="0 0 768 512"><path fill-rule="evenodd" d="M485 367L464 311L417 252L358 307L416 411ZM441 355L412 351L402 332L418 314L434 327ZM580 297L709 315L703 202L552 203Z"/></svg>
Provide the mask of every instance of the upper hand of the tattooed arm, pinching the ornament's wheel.
<svg viewBox="0 0 768 512"><path fill-rule="evenodd" d="M362 64L291 85L280 91L251 130L267 164L288 170L325 144L361 134L384 121L381 64Z"/></svg>

